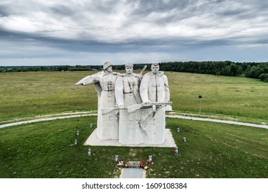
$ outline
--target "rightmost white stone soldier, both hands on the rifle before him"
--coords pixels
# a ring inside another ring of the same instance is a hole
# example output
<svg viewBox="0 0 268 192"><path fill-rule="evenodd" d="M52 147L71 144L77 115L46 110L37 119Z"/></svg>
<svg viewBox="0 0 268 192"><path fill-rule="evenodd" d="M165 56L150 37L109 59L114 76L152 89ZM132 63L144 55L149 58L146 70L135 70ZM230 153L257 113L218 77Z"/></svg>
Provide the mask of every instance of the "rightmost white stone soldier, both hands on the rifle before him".
<svg viewBox="0 0 268 192"><path fill-rule="evenodd" d="M142 77L139 92L144 106L139 125L144 132L143 143L160 145L165 141L166 111L171 111L168 78L159 71L159 64L151 65L151 72Z"/></svg>

